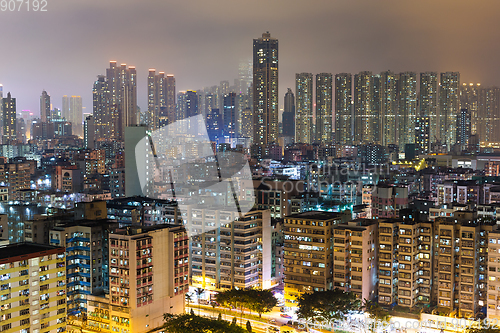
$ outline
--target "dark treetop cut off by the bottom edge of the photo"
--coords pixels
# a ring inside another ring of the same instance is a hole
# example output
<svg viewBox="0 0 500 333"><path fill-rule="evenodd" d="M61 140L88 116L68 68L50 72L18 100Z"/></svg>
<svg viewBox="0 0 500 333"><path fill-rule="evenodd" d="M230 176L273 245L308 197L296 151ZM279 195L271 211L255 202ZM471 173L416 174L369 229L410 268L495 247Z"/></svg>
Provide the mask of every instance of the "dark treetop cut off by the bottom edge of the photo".
<svg viewBox="0 0 500 333"><path fill-rule="evenodd" d="M229 324L227 321L214 320L192 314L165 316L162 328L169 333L245 333L239 326Z"/></svg>

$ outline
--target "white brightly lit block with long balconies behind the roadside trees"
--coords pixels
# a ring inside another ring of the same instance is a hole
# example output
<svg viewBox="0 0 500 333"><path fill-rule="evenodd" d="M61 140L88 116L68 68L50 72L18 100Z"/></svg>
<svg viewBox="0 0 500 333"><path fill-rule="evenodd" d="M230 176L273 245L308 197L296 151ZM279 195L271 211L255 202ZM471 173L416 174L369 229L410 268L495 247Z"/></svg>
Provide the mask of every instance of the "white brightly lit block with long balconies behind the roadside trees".
<svg viewBox="0 0 500 333"><path fill-rule="evenodd" d="M267 289L275 284L269 210L253 210L239 217L223 207L187 207L185 214L187 225L198 228L190 243L193 286L216 291Z"/></svg>

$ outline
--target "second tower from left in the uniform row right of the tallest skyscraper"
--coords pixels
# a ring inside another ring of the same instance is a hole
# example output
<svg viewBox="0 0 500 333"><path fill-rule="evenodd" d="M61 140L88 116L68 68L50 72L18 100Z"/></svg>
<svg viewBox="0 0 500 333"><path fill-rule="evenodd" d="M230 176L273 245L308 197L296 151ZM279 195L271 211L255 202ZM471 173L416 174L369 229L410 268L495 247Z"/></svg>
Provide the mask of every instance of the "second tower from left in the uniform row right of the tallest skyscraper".
<svg viewBox="0 0 500 333"><path fill-rule="evenodd" d="M332 74L316 75L316 142L332 143Z"/></svg>

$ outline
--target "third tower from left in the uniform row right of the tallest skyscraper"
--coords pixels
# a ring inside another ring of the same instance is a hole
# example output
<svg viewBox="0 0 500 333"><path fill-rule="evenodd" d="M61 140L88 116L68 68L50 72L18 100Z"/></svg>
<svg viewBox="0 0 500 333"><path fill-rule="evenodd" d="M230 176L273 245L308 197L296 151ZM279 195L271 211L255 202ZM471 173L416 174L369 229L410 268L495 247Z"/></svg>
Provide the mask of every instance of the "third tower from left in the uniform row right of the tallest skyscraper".
<svg viewBox="0 0 500 333"><path fill-rule="evenodd" d="M352 75L335 75L335 141L352 145Z"/></svg>

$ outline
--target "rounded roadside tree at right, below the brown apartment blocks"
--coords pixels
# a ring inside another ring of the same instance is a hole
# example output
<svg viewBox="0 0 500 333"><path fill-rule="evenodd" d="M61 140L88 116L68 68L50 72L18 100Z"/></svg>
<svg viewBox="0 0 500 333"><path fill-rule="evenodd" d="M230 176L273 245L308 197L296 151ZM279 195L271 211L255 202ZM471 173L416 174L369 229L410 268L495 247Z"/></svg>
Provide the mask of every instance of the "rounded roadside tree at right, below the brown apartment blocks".
<svg viewBox="0 0 500 333"><path fill-rule="evenodd" d="M361 301L353 292L341 289L315 291L303 294L298 300L298 318L324 321L331 324L345 317L349 312L361 308Z"/></svg>

